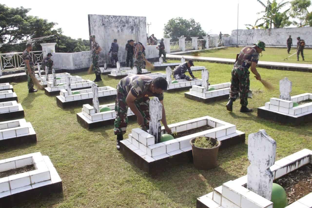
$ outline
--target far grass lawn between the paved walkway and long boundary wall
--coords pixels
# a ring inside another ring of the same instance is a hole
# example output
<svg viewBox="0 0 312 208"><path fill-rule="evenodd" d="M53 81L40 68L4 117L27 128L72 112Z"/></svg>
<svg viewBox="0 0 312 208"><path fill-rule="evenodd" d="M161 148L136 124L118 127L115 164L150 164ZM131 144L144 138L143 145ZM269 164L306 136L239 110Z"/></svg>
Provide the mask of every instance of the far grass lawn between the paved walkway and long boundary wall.
<svg viewBox="0 0 312 208"><path fill-rule="evenodd" d="M192 56L202 56L202 57L218 57L218 58L236 58L236 54L241 51L243 47L227 47L222 49L205 50L203 52L193 52L188 55ZM295 53L296 49L291 48L290 54L287 53L287 48L266 48L266 51L262 52L262 57L260 54L259 61L267 62L288 62L288 63L306 63L312 64L312 49L305 48L303 53L305 55L305 61L302 61L301 55L299 55L299 62L297 61L297 54L288 58L284 61L284 58Z"/></svg>

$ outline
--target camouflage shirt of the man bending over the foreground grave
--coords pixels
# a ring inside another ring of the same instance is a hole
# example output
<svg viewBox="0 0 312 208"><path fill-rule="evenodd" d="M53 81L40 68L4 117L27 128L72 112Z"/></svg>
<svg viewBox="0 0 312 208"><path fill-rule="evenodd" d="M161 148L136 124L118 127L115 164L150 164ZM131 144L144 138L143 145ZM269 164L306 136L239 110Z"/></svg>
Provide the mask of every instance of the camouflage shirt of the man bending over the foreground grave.
<svg viewBox="0 0 312 208"><path fill-rule="evenodd" d="M119 86L126 92L128 95L129 92L134 95L134 97L143 96L148 97L152 95L154 97L158 97L160 101L163 100L163 93L153 93L149 91L149 86L152 83L153 78L146 75L133 75L127 76L120 80Z"/></svg>

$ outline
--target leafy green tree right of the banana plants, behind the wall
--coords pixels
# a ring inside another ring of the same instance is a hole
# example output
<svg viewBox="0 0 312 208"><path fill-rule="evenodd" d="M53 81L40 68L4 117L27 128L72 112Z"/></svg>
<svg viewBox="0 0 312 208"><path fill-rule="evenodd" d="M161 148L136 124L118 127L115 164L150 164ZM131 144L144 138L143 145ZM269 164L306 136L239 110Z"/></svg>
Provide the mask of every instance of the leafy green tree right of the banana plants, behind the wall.
<svg viewBox="0 0 312 208"><path fill-rule="evenodd" d="M293 21L293 24L297 27L304 27L309 23L306 22L306 18L309 14L308 7L311 5L310 0L294 0L291 1L290 16L299 19L299 22Z"/></svg>

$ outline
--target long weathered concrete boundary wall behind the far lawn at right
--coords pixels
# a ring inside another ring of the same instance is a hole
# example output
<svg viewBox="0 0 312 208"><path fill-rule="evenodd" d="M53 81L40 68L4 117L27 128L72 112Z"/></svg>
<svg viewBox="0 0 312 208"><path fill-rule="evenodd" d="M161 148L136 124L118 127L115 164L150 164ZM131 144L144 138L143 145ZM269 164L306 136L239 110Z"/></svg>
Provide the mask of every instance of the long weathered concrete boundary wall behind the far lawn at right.
<svg viewBox="0 0 312 208"><path fill-rule="evenodd" d="M276 29L238 30L238 45L251 45L262 40L268 46L285 46L288 36L297 45L297 37L305 40L306 45L312 45L312 27L291 27ZM232 30L231 44L236 45L237 30Z"/></svg>

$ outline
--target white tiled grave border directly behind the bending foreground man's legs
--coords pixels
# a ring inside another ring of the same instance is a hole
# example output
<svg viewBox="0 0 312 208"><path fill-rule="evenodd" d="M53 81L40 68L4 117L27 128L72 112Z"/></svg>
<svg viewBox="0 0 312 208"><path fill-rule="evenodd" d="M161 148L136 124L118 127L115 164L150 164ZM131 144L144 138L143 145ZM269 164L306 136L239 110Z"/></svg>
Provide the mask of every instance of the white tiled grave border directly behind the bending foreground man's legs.
<svg viewBox="0 0 312 208"><path fill-rule="evenodd" d="M93 106L89 104L85 104L82 106L81 112L77 114L88 123L95 123L99 121L107 121L107 120L112 120L112 119L115 120L116 118L115 103L100 105L100 109L105 106L109 107L111 110L95 113L95 109ZM134 113L131 111L130 108L128 108L127 115L128 116L134 115Z"/></svg>

